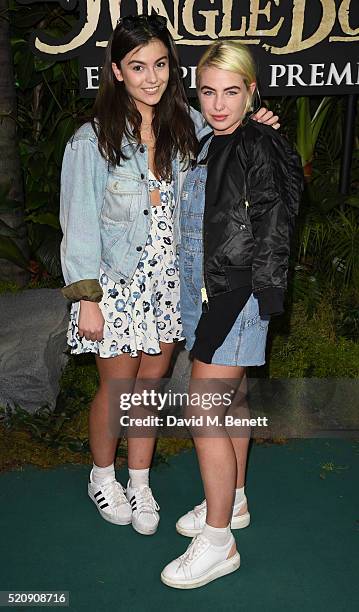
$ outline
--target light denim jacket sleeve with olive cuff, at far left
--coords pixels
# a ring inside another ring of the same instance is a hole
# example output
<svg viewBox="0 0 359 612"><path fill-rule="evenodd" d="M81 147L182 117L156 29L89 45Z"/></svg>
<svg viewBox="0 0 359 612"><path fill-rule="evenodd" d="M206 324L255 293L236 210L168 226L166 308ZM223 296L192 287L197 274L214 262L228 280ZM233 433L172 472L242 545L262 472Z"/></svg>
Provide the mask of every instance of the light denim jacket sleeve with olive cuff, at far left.
<svg viewBox="0 0 359 612"><path fill-rule="evenodd" d="M100 302L102 298L99 215L106 180L107 163L97 141L75 135L65 149L60 195L61 265L66 283L62 293L71 301Z"/></svg>

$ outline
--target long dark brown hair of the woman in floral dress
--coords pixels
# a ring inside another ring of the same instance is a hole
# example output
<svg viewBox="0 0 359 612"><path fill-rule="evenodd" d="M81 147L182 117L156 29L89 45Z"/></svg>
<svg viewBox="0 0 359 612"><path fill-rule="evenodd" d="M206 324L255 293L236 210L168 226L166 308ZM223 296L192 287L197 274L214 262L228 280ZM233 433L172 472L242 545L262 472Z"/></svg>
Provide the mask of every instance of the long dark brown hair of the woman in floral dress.
<svg viewBox="0 0 359 612"><path fill-rule="evenodd" d="M141 140L142 117L123 82L113 74L111 63L120 68L121 60L138 46L158 39L166 46L169 57L169 81L159 103L154 107L152 127L156 138L155 170L157 176L170 178L172 160L179 151L182 159L195 155L197 139L189 104L183 87L175 43L165 20L156 15L138 15L119 20L113 31L101 73L100 87L94 105L92 125L97 133L101 155L111 164L126 159L121 143L124 135Z"/></svg>

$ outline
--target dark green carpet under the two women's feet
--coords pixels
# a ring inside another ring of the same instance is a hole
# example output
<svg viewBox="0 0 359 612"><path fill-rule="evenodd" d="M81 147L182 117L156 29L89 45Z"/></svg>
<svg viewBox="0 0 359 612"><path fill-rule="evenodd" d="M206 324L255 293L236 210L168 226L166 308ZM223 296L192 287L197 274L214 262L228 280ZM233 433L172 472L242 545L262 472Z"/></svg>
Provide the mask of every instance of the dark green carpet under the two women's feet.
<svg viewBox="0 0 359 612"><path fill-rule="evenodd" d="M191 591L164 586L159 574L189 542L176 518L202 499L194 452L153 470L161 523L149 537L100 518L87 498L87 467L1 474L0 589L67 590L76 612L354 612L358 468L359 444L349 440L253 445L252 524L235 532L241 568ZM125 484L126 471L118 476Z"/></svg>

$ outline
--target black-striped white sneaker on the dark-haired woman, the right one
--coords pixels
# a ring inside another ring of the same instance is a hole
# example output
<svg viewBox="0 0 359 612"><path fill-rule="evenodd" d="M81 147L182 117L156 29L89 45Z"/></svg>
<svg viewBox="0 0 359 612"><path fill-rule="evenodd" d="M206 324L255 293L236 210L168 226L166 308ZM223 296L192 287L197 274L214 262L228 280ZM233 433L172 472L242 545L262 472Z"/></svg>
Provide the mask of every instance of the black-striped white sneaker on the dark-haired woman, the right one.
<svg viewBox="0 0 359 612"><path fill-rule="evenodd" d="M142 535L152 535L157 531L160 522L160 509L152 495L150 487L130 487L127 483L127 499L132 508L132 527Z"/></svg>

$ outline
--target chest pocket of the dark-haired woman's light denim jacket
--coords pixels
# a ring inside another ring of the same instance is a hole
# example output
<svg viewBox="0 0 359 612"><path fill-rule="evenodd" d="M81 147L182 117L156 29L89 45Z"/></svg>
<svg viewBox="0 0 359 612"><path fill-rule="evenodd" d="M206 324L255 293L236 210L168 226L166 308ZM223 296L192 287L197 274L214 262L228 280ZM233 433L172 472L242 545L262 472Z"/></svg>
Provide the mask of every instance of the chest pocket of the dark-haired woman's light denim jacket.
<svg viewBox="0 0 359 612"><path fill-rule="evenodd" d="M134 177L109 174L101 211L105 223L128 223L136 217L141 201L141 183Z"/></svg>

